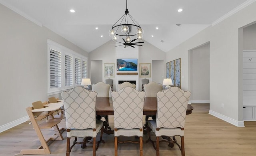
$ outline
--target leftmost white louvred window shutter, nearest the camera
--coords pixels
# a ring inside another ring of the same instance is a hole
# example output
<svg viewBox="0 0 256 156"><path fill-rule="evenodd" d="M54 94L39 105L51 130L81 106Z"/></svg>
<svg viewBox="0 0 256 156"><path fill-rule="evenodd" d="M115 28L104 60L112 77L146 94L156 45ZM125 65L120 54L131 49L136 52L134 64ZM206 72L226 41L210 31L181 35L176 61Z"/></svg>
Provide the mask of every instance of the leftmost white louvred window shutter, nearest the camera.
<svg viewBox="0 0 256 156"><path fill-rule="evenodd" d="M61 87L61 53L50 50L50 88Z"/></svg>

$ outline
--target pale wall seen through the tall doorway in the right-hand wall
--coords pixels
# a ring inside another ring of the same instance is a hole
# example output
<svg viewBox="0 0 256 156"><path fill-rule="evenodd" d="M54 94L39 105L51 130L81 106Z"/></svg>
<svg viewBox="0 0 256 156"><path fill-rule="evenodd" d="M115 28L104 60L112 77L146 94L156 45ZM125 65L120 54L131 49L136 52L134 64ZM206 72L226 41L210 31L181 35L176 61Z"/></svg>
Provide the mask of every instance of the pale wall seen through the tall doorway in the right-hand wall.
<svg viewBox="0 0 256 156"><path fill-rule="evenodd" d="M210 43L190 50L191 103L210 101Z"/></svg>

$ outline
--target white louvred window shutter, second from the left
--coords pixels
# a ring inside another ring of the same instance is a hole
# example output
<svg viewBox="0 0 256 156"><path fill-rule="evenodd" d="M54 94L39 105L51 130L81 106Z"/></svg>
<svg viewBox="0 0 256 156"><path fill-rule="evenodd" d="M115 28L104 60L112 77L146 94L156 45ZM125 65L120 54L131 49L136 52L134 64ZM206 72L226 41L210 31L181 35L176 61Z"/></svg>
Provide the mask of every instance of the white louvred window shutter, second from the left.
<svg viewBox="0 0 256 156"><path fill-rule="evenodd" d="M72 56L65 55L65 86L73 85Z"/></svg>

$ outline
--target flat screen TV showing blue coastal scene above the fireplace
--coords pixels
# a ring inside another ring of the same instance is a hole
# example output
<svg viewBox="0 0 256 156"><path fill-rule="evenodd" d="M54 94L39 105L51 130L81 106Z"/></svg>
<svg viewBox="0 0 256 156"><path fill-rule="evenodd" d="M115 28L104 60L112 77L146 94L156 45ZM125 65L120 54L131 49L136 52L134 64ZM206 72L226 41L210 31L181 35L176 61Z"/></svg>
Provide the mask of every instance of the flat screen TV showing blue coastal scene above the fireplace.
<svg viewBox="0 0 256 156"><path fill-rule="evenodd" d="M138 59L116 59L116 70L137 71Z"/></svg>

